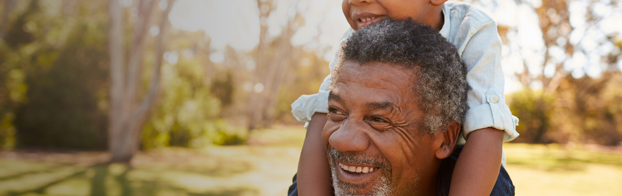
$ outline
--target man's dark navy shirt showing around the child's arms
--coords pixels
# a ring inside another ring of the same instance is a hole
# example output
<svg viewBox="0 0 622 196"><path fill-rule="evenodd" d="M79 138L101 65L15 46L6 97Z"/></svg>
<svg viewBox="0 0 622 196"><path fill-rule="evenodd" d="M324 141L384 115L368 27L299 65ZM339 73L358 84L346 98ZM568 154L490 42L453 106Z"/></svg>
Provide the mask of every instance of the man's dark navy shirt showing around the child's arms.
<svg viewBox="0 0 622 196"><path fill-rule="evenodd" d="M456 161L458 160L458 156L460 155L460 151L462 151L462 148L463 146L457 146L456 149L453 150L452 155L441 161L439 167L439 185L437 187L436 195L449 195L449 185L452 182L453 167L456 165ZM288 196L298 196L298 185L296 183L295 174L293 181L294 183L289 186L289 190L287 191ZM497 182L494 183L493 192L491 192L490 195L514 195L514 185L512 184L512 180L509 178L508 172L506 172L503 166L501 166L501 169L499 170Z"/></svg>

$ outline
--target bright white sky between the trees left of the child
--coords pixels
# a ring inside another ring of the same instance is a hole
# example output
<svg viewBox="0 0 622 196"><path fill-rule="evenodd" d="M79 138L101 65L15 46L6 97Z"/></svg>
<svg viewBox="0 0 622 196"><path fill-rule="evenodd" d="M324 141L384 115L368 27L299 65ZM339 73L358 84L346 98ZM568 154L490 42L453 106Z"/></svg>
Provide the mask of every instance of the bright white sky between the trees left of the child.
<svg viewBox="0 0 622 196"><path fill-rule="evenodd" d="M305 45L307 49L319 51L337 44L350 27L341 12L341 1L303 0L298 6L292 5L292 2L276 0L276 11L266 20L270 35L281 33L281 26L294 9L302 12L305 18L305 25L292 38L294 45ZM177 29L205 30L216 53L221 53L226 45L248 51L259 43L259 9L254 0L179 0L175 2L169 19ZM320 28L318 24L322 24ZM317 39L314 40L315 37ZM326 56L333 58L334 53L329 51ZM218 55L214 57L220 60Z"/></svg>

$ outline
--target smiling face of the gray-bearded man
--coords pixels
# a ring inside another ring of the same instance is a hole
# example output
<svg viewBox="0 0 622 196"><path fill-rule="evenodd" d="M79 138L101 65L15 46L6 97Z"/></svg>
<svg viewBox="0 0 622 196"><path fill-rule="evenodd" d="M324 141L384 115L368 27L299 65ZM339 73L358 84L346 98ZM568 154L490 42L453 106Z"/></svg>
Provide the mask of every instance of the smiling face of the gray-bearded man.
<svg viewBox="0 0 622 196"><path fill-rule="evenodd" d="M434 194L437 137L421 130L411 70L346 61L322 132L339 195Z"/></svg>

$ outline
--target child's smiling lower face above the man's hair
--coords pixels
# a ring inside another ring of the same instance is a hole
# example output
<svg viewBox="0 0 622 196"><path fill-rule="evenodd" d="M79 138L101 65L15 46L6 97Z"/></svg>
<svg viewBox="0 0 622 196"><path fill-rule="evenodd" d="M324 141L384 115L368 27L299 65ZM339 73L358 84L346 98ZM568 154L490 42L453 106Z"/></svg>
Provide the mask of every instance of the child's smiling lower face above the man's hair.
<svg viewBox="0 0 622 196"><path fill-rule="evenodd" d="M341 9L350 27L357 30L364 25L378 22L387 17L407 19L437 27L440 19L440 5L447 0L343 0ZM430 23L430 24L429 24Z"/></svg>

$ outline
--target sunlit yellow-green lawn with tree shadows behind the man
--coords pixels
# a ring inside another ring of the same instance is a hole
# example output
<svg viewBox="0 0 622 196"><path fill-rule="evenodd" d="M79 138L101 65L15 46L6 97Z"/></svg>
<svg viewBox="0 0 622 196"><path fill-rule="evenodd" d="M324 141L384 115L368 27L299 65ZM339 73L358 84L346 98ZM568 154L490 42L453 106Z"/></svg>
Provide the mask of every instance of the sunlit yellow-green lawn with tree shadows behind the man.
<svg viewBox="0 0 622 196"><path fill-rule="evenodd" d="M300 127L253 133L249 145L142 152L131 166L103 152L0 153L0 195L286 195ZM516 195L622 195L622 154L504 145ZM100 163L100 164L98 164Z"/></svg>

